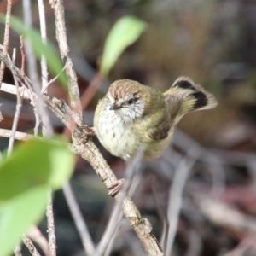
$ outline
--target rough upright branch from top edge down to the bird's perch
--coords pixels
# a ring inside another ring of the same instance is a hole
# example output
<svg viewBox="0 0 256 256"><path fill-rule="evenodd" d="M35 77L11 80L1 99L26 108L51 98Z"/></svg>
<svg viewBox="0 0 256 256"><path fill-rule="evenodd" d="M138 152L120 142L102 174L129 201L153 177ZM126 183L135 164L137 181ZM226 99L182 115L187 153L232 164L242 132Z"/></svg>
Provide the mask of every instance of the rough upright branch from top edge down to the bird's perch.
<svg viewBox="0 0 256 256"><path fill-rule="evenodd" d="M51 1L51 6L55 11L56 38L61 52L61 59L67 63L66 73L69 85L68 93L73 112L73 119L78 125L82 126L84 125L84 119L79 99L78 79L73 68L73 61L67 44L67 32L62 0Z"/></svg>

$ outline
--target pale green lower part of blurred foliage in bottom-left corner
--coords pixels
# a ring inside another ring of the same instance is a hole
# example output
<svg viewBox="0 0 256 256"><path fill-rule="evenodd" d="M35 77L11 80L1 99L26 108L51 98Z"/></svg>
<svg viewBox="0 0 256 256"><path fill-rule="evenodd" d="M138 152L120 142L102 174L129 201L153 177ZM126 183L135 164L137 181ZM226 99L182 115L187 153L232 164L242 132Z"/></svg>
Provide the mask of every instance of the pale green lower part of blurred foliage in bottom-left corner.
<svg viewBox="0 0 256 256"><path fill-rule="evenodd" d="M47 190L47 186L27 190L1 207L0 255L9 255L19 243L22 234L43 217Z"/></svg>

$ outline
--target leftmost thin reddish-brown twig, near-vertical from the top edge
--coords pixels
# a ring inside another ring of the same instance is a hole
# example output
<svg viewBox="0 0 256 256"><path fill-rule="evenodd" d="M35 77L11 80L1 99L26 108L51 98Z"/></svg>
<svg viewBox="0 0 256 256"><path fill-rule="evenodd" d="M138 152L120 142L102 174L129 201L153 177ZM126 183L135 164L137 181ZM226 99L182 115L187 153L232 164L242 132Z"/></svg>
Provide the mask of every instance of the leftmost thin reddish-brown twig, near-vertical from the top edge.
<svg viewBox="0 0 256 256"><path fill-rule="evenodd" d="M9 48L9 22L10 22L10 15L12 9L12 0L7 1L7 9L6 9L6 16L5 16L5 28L4 28L4 36L3 36L3 54L6 55ZM1 61L0 65L0 90L1 84L3 80L3 73L4 73L4 63Z"/></svg>

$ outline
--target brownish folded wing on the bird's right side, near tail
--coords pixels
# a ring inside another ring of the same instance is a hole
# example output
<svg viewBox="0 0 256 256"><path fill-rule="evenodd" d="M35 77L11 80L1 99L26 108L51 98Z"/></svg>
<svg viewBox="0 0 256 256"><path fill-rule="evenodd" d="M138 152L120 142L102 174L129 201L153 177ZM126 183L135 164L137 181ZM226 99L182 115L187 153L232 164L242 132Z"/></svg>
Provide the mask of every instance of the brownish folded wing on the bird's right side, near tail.
<svg viewBox="0 0 256 256"><path fill-rule="evenodd" d="M180 109L182 104L182 100L180 99L180 97L172 95L166 95L165 101L166 113L162 115L162 118L160 119L158 124L148 129L148 137L153 140L161 140L168 136L168 133L172 128L172 125L174 124L174 119L176 118L178 110Z"/></svg>

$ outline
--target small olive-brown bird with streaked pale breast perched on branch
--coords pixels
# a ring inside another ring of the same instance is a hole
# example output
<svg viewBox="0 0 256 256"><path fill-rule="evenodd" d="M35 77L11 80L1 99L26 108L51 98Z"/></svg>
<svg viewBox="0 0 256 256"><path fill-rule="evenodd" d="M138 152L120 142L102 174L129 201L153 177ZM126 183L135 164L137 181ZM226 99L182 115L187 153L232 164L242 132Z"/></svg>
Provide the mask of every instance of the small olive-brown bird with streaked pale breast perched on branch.
<svg viewBox="0 0 256 256"><path fill-rule="evenodd" d="M212 94L185 77L164 93L136 81L118 80L96 107L94 130L111 154L131 160L143 145L143 160L152 160L168 147L184 114L217 104Z"/></svg>

